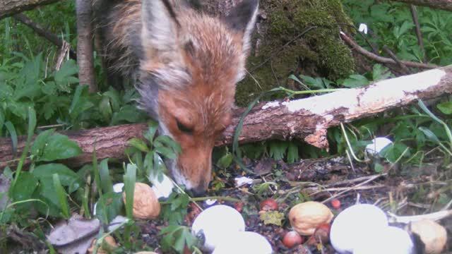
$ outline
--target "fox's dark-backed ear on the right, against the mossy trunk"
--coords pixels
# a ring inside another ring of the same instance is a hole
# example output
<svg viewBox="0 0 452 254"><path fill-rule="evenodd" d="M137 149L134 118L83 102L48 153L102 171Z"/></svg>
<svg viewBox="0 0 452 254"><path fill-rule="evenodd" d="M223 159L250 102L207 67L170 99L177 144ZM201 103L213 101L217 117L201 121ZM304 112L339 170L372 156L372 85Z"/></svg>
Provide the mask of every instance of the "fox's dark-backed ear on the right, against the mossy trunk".
<svg viewBox="0 0 452 254"><path fill-rule="evenodd" d="M237 32L243 32L243 49L245 54L249 52L249 40L253 32L254 24L259 8L258 0L243 0L235 6L224 18L227 25Z"/></svg>

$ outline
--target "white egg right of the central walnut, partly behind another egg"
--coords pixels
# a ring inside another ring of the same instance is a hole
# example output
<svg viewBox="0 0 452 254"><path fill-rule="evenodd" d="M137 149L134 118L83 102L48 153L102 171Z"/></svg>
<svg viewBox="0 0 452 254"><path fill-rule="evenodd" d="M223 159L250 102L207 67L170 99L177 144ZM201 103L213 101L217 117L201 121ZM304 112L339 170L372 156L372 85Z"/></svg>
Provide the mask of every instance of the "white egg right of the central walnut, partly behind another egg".
<svg viewBox="0 0 452 254"><path fill-rule="evenodd" d="M379 207L358 204L340 212L331 224L330 241L341 254L352 253L357 242L372 237L388 226L388 218Z"/></svg>

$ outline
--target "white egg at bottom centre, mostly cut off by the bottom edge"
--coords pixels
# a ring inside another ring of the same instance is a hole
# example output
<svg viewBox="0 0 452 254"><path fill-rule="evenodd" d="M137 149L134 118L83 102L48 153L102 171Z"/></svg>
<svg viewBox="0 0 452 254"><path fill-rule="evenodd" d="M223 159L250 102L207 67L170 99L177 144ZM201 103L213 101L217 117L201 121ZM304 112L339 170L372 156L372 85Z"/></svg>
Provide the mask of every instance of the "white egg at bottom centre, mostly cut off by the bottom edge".
<svg viewBox="0 0 452 254"><path fill-rule="evenodd" d="M232 234L229 238L223 239L213 250L212 254L271 254L271 248L268 240L261 234L255 232L243 231Z"/></svg>

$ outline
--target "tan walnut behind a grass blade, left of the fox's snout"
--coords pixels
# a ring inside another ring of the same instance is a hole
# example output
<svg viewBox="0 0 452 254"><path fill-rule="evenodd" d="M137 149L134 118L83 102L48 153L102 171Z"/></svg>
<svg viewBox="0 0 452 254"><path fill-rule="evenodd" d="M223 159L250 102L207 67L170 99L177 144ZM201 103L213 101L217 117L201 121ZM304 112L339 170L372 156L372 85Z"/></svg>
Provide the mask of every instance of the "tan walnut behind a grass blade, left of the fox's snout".
<svg viewBox="0 0 452 254"><path fill-rule="evenodd" d="M126 193L122 197L126 203ZM155 219L160 214L160 203L150 186L145 183L135 183L133 192L133 217L138 219Z"/></svg>

